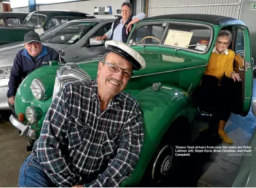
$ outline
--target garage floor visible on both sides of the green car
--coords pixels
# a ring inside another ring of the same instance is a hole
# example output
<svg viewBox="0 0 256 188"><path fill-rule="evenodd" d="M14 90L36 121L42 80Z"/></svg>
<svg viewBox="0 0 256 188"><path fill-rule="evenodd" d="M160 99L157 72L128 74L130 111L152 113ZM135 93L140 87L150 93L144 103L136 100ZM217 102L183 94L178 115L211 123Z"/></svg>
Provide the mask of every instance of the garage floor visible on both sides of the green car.
<svg viewBox="0 0 256 188"><path fill-rule="evenodd" d="M254 79L256 86L256 79ZM253 99L256 98L256 87L253 90ZM11 112L0 112L8 120ZM226 131L234 140L234 146L247 146L247 143L256 126L255 117L251 111L247 117L231 115L227 123ZM17 187L18 173L21 164L26 156L26 140L19 136L18 131L6 121L0 123L0 187ZM221 146L225 143L212 143L207 135L201 133L193 146ZM185 158L184 158L185 159ZM241 164L241 157L227 156L227 153L214 153L207 155L193 155L186 158L183 165L179 167L179 172L174 177L170 177L163 186L171 187L231 187ZM174 183L175 182L175 183Z"/></svg>

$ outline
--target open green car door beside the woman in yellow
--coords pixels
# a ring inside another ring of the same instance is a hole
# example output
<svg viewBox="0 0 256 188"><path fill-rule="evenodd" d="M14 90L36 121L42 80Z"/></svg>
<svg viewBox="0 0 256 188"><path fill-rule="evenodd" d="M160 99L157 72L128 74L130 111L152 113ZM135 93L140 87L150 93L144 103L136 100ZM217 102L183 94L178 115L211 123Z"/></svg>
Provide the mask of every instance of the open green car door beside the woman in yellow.
<svg viewBox="0 0 256 188"><path fill-rule="evenodd" d="M241 82L234 82L234 113L246 116L251 107L252 73L251 41L247 27L237 26L233 32L232 50L235 52L234 70Z"/></svg>

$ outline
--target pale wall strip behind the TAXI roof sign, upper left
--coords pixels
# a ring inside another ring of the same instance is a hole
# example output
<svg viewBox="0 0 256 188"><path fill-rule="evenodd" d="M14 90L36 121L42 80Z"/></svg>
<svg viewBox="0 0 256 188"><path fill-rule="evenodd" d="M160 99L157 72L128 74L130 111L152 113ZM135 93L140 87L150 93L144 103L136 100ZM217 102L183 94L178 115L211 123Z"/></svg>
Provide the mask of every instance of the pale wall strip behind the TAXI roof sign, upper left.
<svg viewBox="0 0 256 188"><path fill-rule="evenodd" d="M122 3L125 1L120 0L91 0L91 1L77 1L65 2L60 4L38 5L38 10L55 9L85 12L87 14L94 14L95 6L112 6L112 12L115 14L117 9L121 8Z"/></svg>

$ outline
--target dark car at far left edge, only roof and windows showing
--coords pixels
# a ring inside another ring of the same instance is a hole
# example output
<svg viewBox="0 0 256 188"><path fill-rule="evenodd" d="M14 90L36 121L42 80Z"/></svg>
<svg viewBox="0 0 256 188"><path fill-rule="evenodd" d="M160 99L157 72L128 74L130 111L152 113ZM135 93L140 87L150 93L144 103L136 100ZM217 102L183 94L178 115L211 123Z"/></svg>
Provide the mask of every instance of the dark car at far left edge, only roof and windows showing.
<svg viewBox="0 0 256 188"><path fill-rule="evenodd" d="M0 12L0 27L18 27L29 12Z"/></svg>

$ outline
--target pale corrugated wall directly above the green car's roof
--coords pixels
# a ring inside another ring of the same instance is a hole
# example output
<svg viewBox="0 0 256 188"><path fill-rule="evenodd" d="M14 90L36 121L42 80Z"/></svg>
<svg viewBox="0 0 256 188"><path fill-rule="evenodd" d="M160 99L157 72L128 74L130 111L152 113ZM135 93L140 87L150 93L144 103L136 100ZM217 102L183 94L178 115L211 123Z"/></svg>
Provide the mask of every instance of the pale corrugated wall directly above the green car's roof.
<svg viewBox="0 0 256 188"><path fill-rule="evenodd" d="M214 14L238 18L240 0L148 0L148 17L165 14Z"/></svg>

